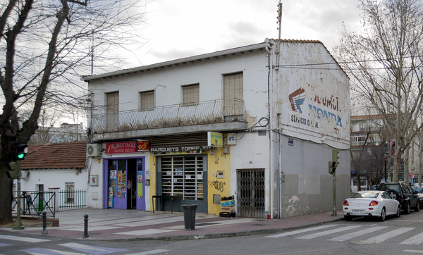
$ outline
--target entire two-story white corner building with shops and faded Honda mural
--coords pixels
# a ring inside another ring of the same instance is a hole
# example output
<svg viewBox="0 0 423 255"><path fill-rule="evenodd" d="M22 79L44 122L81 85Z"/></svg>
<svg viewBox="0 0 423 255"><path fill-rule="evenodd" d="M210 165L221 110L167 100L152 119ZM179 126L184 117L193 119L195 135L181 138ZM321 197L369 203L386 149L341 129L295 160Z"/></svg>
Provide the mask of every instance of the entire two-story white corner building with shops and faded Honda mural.
<svg viewBox="0 0 423 255"><path fill-rule="evenodd" d="M333 149L338 209L350 193L348 76L319 41L266 39L83 80L102 194L87 194L90 206L219 215L233 196L226 211L240 217L332 211Z"/></svg>

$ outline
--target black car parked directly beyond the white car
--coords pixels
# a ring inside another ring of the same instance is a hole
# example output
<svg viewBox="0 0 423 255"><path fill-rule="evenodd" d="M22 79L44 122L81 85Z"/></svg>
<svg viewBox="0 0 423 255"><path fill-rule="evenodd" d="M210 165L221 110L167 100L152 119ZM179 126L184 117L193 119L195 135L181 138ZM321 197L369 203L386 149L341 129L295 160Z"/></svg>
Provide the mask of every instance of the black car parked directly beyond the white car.
<svg viewBox="0 0 423 255"><path fill-rule="evenodd" d="M388 192L388 194L394 194L405 214L410 213L411 209L414 209L414 211L420 210L417 192L413 191L410 185L406 183L385 182L381 183L377 189Z"/></svg>

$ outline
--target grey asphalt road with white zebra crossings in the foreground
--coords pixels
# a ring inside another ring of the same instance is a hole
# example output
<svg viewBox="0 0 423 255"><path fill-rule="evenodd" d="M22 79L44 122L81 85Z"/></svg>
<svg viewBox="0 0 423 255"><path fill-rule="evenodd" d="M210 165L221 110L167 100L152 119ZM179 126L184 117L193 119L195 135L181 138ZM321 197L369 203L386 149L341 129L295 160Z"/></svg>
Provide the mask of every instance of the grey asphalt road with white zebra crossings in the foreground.
<svg viewBox="0 0 423 255"><path fill-rule="evenodd" d="M0 231L0 254L422 254L423 212L357 218L271 235L109 242Z"/></svg>

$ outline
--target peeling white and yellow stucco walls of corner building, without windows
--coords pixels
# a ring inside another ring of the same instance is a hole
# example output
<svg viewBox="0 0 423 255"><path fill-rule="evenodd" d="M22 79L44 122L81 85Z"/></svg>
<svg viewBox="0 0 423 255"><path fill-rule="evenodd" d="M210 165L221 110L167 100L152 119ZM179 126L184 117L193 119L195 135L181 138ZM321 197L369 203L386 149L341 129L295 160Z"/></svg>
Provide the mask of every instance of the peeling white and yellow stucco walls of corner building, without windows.
<svg viewBox="0 0 423 255"><path fill-rule="evenodd" d="M216 105L224 101L224 77L233 73L241 73L243 77L243 118L228 120L225 117L215 122L211 117L203 117L200 106L205 108L209 102ZM223 134L223 146L208 147L199 142L202 149L195 151L195 155L203 157L200 168L204 173L196 175L202 182L201 187L204 185L204 198L197 202L203 203L202 210L206 213L217 214L221 210L214 201L217 195L234 196L238 215L248 216L243 214L245 210L262 211L253 213L257 218L331 211L333 175L328 173L328 161L331 161L332 149L338 149L341 162L336 170L339 208L350 193L348 77L321 42L283 40L278 45L277 41L266 39L262 44L83 79L88 82L92 100L89 143L99 144L101 148L99 156L90 157L87 163L90 175L99 176L99 186L90 187L98 199L87 201L93 207L107 208L104 185L110 184L110 172L106 168L111 168L114 158L126 160L126 166L130 158L137 158L143 167L138 168L137 173L143 176L144 185L139 186L143 188L137 193L137 199L142 197L143 210L151 210L152 196L164 192L168 185L164 176L170 172L162 168L179 155L154 154L153 151L107 154L108 144L140 139L149 141L151 147L163 149L176 147L179 138L180 144L185 146L192 141L184 137L197 135L202 139L202 134L207 132ZM184 109L185 85L199 85L199 107L190 113L189 121L187 116L175 116ZM154 92L154 111L150 113L165 108L177 108L177 113L162 115L147 124L142 124L145 119L133 117L143 112L140 111L140 92L149 91ZM118 92L118 128L99 129L94 118L107 112L108 94L114 92ZM129 113L132 117L128 117ZM135 124L130 124L130 118L135 118ZM125 169L129 173L129 167ZM259 173L259 177L251 178L255 173ZM254 189L262 194L259 197L245 194L247 189L241 187L243 178L254 181L259 186ZM258 178L259 182L255 182ZM252 199L259 209L246 209L241 205L245 199Z"/></svg>

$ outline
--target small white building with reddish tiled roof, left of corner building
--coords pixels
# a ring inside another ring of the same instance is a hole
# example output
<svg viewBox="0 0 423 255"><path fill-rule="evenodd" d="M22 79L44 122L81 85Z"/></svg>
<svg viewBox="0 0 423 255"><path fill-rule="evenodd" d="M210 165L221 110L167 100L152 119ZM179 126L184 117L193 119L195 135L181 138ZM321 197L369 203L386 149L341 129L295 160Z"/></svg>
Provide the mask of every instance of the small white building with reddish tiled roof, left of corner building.
<svg viewBox="0 0 423 255"><path fill-rule="evenodd" d="M90 185L87 142L30 145L28 155L21 161L21 169L20 189L24 192L86 191Z"/></svg>

